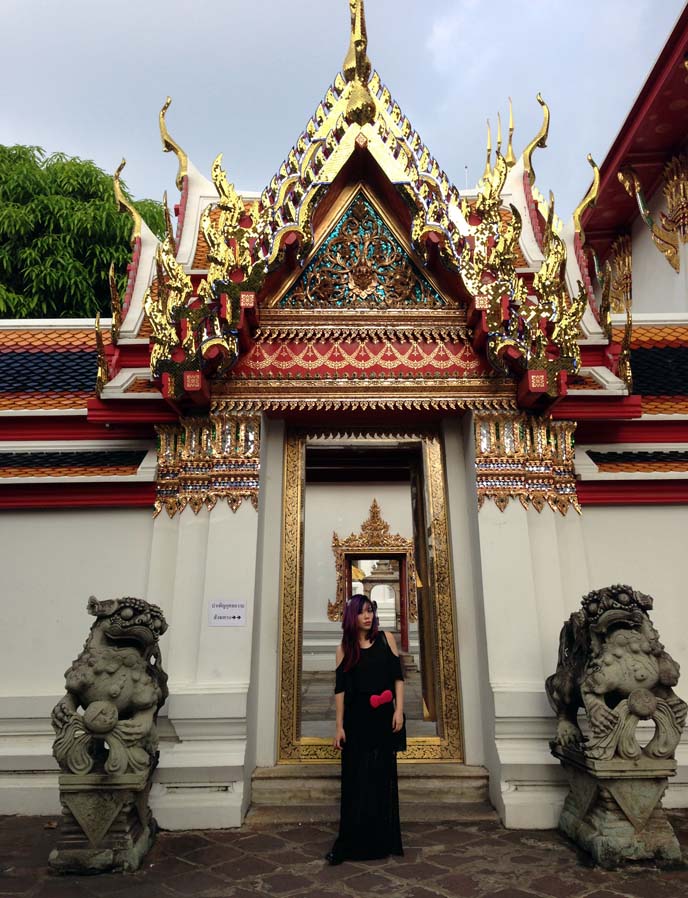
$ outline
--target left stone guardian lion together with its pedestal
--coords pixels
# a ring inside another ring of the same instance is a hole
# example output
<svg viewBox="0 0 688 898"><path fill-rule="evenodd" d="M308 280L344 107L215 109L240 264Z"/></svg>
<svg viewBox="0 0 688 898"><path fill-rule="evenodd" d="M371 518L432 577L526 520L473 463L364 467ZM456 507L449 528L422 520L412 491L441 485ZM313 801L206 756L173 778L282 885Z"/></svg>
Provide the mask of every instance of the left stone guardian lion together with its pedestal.
<svg viewBox="0 0 688 898"><path fill-rule="evenodd" d="M62 873L131 871L155 835L148 793L168 695L158 647L167 624L142 599L91 596L87 609L95 622L52 713L62 818L50 864Z"/></svg>

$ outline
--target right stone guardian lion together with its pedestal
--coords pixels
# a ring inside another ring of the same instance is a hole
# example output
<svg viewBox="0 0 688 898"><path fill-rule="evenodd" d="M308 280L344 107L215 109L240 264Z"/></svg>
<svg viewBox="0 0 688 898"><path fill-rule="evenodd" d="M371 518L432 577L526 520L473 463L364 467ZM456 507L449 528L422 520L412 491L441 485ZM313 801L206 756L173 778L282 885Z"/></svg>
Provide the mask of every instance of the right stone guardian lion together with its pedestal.
<svg viewBox="0 0 688 898"><path fill-rule="evenodd" d="M630 586L589 593L562 628L557 670L545 684L558 717L552 753L570 784L559 827L605 867L681 860L661 798L676 773L688 705L673 690L679 666L651 609L652 598ZM644 746L640 721L654 724Z"/></svg>

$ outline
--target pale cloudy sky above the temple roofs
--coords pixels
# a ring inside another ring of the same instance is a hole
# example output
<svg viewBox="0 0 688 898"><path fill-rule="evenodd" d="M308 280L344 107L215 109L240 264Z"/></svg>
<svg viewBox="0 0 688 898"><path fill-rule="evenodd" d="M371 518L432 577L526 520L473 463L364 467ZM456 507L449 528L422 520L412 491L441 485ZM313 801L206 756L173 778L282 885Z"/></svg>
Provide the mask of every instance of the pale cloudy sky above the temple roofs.
<svg viewBox="0 0 688 898"><path fill-rule="evenodd" d="M661 51L684 0L367 0L368 54L459 187L484 165L485 119L514 104L520 153L549 103L537 183L571 213ZM0 143L37 144L176 201L158 112L209 174L224 153L262 190L344 58L347 0L0 0Z"/></svg>

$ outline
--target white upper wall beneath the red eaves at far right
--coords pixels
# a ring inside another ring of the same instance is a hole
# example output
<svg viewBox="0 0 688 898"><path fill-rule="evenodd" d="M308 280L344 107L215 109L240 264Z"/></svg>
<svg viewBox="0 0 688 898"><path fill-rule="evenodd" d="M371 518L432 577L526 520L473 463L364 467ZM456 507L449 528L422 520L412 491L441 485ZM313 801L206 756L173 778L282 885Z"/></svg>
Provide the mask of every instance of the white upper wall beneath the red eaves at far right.
<svg viewBox="0 0 688 898"><path fill-rule="evenodd" d="M659 211L666 212L666 201L660 190L649 203L659 221ZM650 230L638 217L633 224L633 312L688 312L688 244L679 240L680 272L675 271L655 246Z"/></svg>

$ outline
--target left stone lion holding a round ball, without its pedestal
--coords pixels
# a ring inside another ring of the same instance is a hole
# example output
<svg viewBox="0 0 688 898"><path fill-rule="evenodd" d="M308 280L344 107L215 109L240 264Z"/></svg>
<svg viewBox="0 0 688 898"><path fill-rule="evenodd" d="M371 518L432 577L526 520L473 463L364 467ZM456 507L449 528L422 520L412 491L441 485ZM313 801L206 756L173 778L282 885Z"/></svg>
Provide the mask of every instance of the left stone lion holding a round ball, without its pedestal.
<svg viewBox="0 0 688 898"><path fill-rule="evenodd" d="M130 597L91 596L87 610L95 621L52 712L53 754L67 773L142 773L157 762L155 724L168 695L158 647L165 618Z"/></svg>

